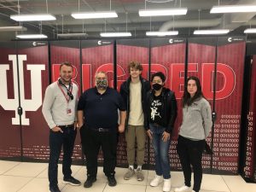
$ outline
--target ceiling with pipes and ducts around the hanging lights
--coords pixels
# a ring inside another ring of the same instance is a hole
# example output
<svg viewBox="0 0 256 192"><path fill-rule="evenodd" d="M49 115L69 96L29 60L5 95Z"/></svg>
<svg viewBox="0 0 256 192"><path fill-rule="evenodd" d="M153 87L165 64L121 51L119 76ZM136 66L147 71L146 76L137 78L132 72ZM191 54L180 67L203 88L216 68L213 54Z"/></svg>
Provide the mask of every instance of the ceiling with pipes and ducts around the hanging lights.
<svg viewBox="0 0 256 192"><path fill-rule="evenodd" d="M96 20L75 20L71 16L72 12L82 11L108 11L115 10L119 17L113 19ZM162 3L164 2L164 3ZM20 0L20 14L45 14L46 0ZM188 8L187 15L152 17L152 31L179 31L180 37L191 37L195 29L200 28L230 28L232 35L244 35L245 28L256 27L256 12L244 14L210 14L212 6L218 5L218 0L48 0L48 13L55 15L57 20L43 21L43 33L49 38L57 38L56 33L82 32L88 33L88 38L99 38L100 32L124 32L132 33L132 38L146 38L145 32L150 31L150 18L140 17L139 9L167 9L167 8ZM9 15L18 14L17 0L0 0L0 26L19 26L20 23L10 20ZM231 4L256 4L256 0L219 0L220 5ZM127 23L126 23L127 14ZM40 22L23 22L27 32L38 33ZM0 32L0 40L15 39L16 32ZM20 33L20 32L19 32ZM247 38L256 38L256 35L248 35Z"/></svg>

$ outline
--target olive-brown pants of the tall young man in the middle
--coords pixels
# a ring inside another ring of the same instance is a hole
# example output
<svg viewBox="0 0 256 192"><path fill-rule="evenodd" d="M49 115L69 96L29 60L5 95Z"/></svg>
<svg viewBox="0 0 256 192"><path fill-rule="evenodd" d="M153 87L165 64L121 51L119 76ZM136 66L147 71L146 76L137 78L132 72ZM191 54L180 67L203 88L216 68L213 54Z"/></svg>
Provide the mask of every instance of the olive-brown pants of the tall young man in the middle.
<svg viewBox="0 0 256 192"><path fill-rule="evenodd" d="M125 140L127 143L127 160L129 166L135 162L135 143L137 143L137 165L144 164L146 133L143 125L128 125L125 130Z"/></svg>

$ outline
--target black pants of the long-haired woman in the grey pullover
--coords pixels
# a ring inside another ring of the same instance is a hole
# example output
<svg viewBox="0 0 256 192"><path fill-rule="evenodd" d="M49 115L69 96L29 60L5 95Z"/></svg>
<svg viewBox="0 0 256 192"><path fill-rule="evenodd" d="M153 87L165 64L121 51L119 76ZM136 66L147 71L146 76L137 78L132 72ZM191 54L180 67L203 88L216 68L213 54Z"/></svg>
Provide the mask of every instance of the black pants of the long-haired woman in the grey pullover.
<svg viewBox="0 0 256 192"><path fill-rule="evenodd" d="M194 171L194 187L193 190L199 191L201 188L202 167L201 157L205 146L205 141L192 141L188 138L179 136L177 138L177 154L183 167L183 175L185 185L191 186L191 167Z"/></svg>

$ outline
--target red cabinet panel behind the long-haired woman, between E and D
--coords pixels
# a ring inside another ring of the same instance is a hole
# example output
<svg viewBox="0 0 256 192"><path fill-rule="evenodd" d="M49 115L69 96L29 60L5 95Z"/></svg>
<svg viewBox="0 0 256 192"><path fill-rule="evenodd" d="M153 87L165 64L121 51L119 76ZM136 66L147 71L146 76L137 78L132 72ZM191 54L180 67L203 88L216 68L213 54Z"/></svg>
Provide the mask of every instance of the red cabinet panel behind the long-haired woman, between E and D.
<svg viewBox="0 0 256 192"><path fill-rule="evenodd" d="M189 38L188 53L188 78L196 76L200 79L203 94L210 102L212 109L216 40L216 38ZM211 143L211 138L211 135L207 137L207 143ZM210 155L203 155L202 166L204 172L209 171Z"/></svg>

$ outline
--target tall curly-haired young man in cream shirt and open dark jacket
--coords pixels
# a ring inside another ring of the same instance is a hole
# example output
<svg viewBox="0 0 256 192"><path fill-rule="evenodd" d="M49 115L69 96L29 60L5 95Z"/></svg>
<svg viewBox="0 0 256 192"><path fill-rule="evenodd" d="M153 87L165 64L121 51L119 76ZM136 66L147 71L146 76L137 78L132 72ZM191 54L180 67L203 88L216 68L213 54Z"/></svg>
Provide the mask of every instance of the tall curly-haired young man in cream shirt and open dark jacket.
<svg viewBox="0 0 256 192"><path fill-rule="evenodd" d="M143 181L144 176L142 166L144 164L145 152L145 123L144 101L146 93L150 90L150 84L146 79L142 78L143 67L137 61L131 61L128 66L130 73L127 79L120 87L120 94L123 96L127 108L127 116L125 121L125 140L127 143L127 159L128 171L125 173L124 179L130 179L137 173L137 181ZM137 143L137 151L135 144ZM134 170L135 154L137 152L137 170Z"/></svg>

